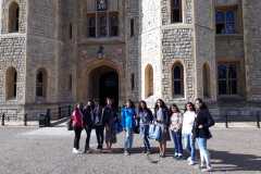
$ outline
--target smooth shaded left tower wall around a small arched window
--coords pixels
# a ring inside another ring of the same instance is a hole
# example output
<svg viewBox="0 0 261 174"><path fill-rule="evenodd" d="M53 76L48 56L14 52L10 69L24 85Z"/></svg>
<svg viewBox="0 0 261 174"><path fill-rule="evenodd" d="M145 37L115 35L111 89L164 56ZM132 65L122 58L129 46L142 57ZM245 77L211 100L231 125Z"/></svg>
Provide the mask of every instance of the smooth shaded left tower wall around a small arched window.
<svg viewBox="0 0 261 174"><path fill-rule="evenodd" d="M58 61L61 42L59 34L59 1L28 1L26 103L58 101ZM47 97L36 98L36 75L47 71Z"/></svg>

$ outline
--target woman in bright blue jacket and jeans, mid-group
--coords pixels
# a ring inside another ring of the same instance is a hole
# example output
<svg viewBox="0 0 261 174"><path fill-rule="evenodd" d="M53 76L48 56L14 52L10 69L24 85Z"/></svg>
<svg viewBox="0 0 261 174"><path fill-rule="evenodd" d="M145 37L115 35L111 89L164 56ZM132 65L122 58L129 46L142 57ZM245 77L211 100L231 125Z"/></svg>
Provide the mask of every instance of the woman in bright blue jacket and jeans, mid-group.
<svg viewBox="0 0 261 174"><path fill-rule="evenodd" d="M132 100L127 100L126 107L122 109L122 126L125 132L124 154L129 156L133 147L133 128L136 119L135 105Z"/></svg>

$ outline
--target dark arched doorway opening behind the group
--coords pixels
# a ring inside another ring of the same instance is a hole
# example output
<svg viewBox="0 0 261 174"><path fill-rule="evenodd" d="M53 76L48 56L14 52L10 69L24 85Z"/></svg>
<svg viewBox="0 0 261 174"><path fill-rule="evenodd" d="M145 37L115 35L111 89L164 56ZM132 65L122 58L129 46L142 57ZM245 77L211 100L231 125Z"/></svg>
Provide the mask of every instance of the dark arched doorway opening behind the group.
<svg viewBox="0 0 261 174"><path fill-rule="evenodd" d="M102 65L94 69L88 75L87 82L88 98L105 103L105 98L110 97L114 103L119 104L119 74L116 70Z"/></svg>

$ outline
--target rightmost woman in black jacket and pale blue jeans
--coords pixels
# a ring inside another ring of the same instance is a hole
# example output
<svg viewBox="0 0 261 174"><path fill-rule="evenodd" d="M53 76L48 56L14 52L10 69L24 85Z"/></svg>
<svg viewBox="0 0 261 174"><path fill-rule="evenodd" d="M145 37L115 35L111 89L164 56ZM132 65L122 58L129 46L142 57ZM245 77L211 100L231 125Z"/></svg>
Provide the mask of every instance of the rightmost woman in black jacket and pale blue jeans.
<svg viewBox="0 0 261 174"><path fill-rule="evenodd" d="M196 99L196 109L197 109L197 117L195 119L192 134L199 147L200 161L201 161L200 166L203 171L211 171L212 167L211 167L209 151L207 149L207 140L212 137L209 130L209 127L214 125L214 120L211 116L208 110L208 107L202 101L202 99L199 99L199 98ZM204 162L206 162L207 169L203 169Z"/></svg>

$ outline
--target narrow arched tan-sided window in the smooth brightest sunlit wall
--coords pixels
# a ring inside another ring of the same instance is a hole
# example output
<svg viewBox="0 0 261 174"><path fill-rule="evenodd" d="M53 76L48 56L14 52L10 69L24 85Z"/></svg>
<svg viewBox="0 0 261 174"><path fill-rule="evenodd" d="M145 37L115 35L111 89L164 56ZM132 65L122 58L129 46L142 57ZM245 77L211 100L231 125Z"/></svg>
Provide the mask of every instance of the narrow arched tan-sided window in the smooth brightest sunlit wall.
<svg viewBox="0 0 261 174"><path fill-rule="evenodd" d="M145 69L145 97L153 96L153 67L149 64Z"/></svg>

